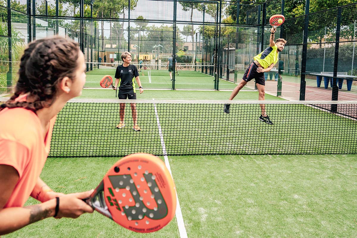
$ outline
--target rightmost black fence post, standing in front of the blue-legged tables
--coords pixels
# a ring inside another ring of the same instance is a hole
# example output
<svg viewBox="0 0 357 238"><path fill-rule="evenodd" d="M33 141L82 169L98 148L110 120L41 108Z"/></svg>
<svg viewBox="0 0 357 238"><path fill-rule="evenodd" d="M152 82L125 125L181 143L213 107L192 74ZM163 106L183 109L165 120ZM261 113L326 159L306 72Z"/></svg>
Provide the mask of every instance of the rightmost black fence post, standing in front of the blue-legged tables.
<svg viewBox="0 0 357 238"><path fill-rule="evenodd" d="M338 49L340 48L341 13L342 13L342 8L339 7L337 10L335 60L333 62L332 101L338 100L337 71L338 71ZM331 112L332 113L337 112L337 104L331 104Z"/></svg>

